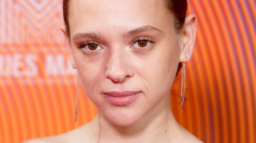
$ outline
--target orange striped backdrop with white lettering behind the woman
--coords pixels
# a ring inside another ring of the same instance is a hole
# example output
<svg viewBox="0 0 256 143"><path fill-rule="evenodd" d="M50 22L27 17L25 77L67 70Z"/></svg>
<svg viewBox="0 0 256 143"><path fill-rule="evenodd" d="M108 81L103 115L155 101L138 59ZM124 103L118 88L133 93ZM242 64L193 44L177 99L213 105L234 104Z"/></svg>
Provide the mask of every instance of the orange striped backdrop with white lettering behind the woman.
<svg viewBox="0 0 256 143"><path fill-rule="evenodd" d="M62 1L0 1L0 142L70 131L97 109L79 87L66 53ZM256 142L256 2L191 0L197 41L187 65L186 101L176 119L204 142ZM179 90L180 74L174 90ZM177 87L177 88L176 88ZM180 91L177 91L179 94Z"/></svg>

